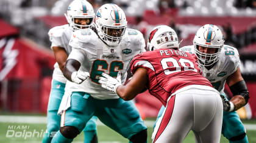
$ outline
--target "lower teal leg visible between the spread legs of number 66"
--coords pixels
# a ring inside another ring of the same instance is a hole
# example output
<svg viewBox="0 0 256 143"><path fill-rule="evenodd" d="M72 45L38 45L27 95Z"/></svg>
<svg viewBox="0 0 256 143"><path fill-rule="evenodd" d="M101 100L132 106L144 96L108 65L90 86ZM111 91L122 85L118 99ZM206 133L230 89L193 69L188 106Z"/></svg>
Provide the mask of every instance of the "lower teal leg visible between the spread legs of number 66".
<svg viewBox="0 0 256 143"><path fill-rule="evenodd" d="M84 143L97 143L97 125L96 125L97 117L93 116L85 125L84 128Z"/></svg>

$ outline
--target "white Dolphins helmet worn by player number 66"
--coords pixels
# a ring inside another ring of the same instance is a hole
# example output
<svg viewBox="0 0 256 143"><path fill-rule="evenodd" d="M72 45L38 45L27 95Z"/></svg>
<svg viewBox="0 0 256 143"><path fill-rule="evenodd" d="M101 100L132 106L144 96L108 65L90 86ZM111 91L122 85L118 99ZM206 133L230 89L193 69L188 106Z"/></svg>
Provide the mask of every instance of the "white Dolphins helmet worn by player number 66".
<svg viewBox="0 0 256 143"><path fill-rule="evenodd" d="M95 27L99 37L107 45L118 45L126 32L126 15L118 5L104 4L96 13Z"/></svg>

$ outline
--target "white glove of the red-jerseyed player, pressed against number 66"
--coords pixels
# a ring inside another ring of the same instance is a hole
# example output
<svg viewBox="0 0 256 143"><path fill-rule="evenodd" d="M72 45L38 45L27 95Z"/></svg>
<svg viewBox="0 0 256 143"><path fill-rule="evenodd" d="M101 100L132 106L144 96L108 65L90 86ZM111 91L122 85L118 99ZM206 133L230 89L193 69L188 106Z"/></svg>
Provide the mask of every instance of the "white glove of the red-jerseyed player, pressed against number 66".
<svg viewBox="0 0 256 143"><path fill-rule="evenodd" d="M118 72L118 75L116 78L113 78L110 75L107 75L107 73L102 73L102 77L99 78L99 83L101 84L101 87L113 91L113 93L116 93L116 88L119 85L122 85L121 82L121 72Z"/></svg>

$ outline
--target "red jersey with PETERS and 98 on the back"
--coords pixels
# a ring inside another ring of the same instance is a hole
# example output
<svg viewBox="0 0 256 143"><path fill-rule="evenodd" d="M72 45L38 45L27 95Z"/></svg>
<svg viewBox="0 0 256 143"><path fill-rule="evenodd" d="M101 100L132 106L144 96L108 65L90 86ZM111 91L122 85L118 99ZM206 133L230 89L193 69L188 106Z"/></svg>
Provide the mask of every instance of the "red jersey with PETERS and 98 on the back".
<svg viewBox="0 0 256 143"><path fill-rule="evenodd" d="M202 76L196 56L187 52L171 48L144 52L135 56L130 66L132 73L140 67L147 69L147 88L163 105L166 105L172 93L187 85L212 87L208 79Z"/></svg>

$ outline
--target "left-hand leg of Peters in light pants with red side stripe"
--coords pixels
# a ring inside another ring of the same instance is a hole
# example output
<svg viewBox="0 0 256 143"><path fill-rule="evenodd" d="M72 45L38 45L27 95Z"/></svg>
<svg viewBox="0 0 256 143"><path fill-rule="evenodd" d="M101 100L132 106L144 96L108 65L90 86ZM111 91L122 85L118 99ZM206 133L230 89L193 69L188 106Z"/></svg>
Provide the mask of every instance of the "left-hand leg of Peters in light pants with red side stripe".
<svg viewBox="0 0 256 143"><path fill-rule="evenodd" d="M193 97L174 95L155 124L153 142L182 142L193 126Z"/></svg>

